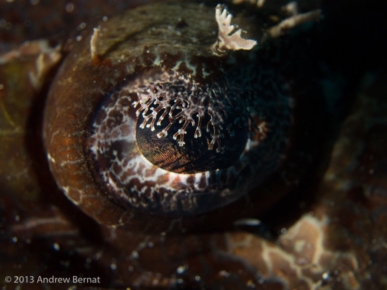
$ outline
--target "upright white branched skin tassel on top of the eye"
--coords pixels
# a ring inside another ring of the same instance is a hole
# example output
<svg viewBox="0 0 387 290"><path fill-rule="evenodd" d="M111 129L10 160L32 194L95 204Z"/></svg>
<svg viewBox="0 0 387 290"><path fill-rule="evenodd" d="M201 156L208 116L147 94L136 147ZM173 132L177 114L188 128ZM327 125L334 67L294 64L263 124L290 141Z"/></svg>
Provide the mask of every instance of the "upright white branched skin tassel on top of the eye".
<svg viewBox="0 0 387 290"><path fill-rule="evenodd" d="M232 33L235 29L235 26L231 25L233 15L223 5L216 6L215 18L219 27L218 38L212 46L215 55L224 55L229 50L250 50L257 44L255 40L242 38L240 36L242 29L238 29L238 27L236 27L238 30Z"/></svg>

